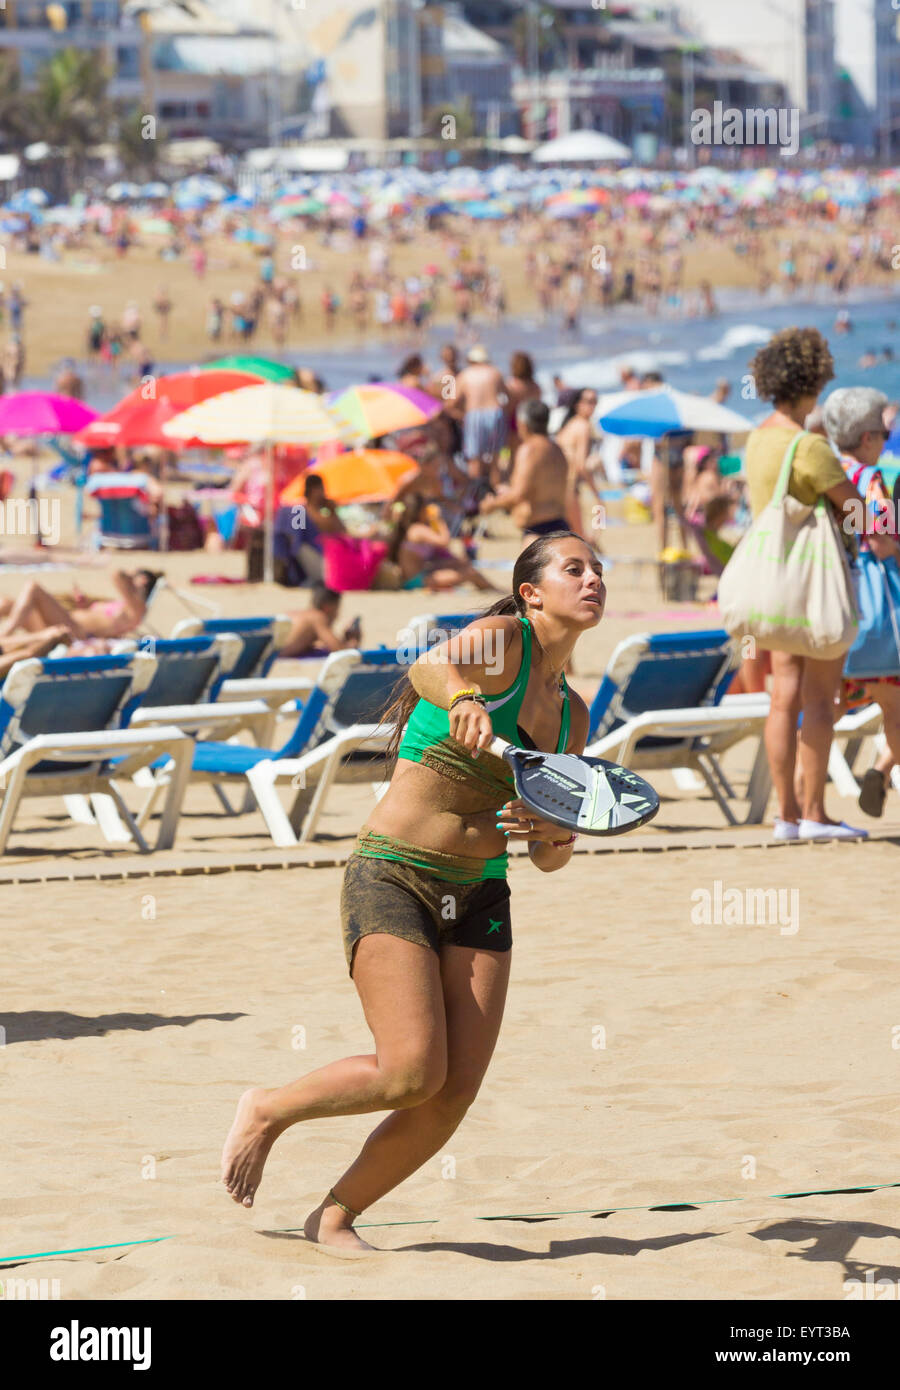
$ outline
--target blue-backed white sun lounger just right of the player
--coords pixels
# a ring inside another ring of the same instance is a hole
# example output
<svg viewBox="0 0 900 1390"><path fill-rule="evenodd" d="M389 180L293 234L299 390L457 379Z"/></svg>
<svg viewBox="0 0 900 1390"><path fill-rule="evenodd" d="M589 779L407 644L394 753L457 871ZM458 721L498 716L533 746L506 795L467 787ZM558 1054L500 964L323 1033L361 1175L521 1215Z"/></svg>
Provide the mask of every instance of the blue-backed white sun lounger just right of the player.
<svg viewBox="0 0 900 1390"><path fill-rule="evenodd" d="M768 695L726 701L740 651L725 631L664 632L619 642L590 710L591 758L606 758L636 771L668 769L683 790L700 773L729 824L736 798L719 756L743 738L757 738L747 790L748 824L758 824L768 802L768 764L762 730Z"/></svg>

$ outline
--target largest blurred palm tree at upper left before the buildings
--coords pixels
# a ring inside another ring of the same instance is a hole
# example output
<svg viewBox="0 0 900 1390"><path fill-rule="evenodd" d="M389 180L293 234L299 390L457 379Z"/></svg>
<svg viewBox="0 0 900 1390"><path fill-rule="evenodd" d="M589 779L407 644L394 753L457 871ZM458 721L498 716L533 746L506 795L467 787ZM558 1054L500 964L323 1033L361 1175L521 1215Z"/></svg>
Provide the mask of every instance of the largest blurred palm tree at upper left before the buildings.
<svg viewBox="0 0 900 1390"><path fill-rule="evenodd" d="M67 185L81 178L88 150L107 138L109 74L96 53L60 49L38 70L38 138L54 152Z"/></svg>

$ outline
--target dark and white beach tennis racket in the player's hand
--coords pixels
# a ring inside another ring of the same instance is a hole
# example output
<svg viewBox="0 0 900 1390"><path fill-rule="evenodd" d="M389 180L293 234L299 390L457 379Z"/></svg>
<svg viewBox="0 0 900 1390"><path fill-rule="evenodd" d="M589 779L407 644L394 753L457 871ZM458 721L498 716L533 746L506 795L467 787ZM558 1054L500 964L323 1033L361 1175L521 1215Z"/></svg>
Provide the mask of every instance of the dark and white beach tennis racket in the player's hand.
<svg viewBox="0 0 900 1390"><path fill-rule="evenodd" d="M495 738L490 751L512 767L522 801L544 820L580 835L625 835L659 810L650 783L602 758L540 753Z"/></svg>

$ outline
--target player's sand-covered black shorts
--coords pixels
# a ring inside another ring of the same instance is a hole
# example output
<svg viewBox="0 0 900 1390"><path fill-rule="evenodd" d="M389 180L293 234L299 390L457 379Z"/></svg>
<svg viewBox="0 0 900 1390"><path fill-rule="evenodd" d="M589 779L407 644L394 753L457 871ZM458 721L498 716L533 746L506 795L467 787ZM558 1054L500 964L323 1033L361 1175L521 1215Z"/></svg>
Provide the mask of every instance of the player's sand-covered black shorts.
<svg viewBox="0 0 900 1390"><path fill-rule="evenodd" d="M376 931L438 952L442 945L509 951L509 884L505 878L448 883L394 859L351 855L341 888L341 927L351 976L353 947Z"/></svg>

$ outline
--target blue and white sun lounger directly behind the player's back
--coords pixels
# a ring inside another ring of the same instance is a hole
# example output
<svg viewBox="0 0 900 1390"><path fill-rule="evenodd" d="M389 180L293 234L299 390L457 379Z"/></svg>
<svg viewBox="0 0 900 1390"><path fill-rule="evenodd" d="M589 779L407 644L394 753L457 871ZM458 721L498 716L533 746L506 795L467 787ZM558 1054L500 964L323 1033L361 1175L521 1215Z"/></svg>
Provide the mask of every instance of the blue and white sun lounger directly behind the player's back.
<svg viewBox="0 0 900 1390"><path fill-rule="evenodd" d="M249 785L275 845L312 840L335 781L383 784L383 753L392 730L378 723L378 717L405 671L403 653L389 648L335 652L281 748L196 744L191 783ZM157 771L139 824L167 777L168 769ZM284 781L294 792L288 810L277 792Z"/></svg>

